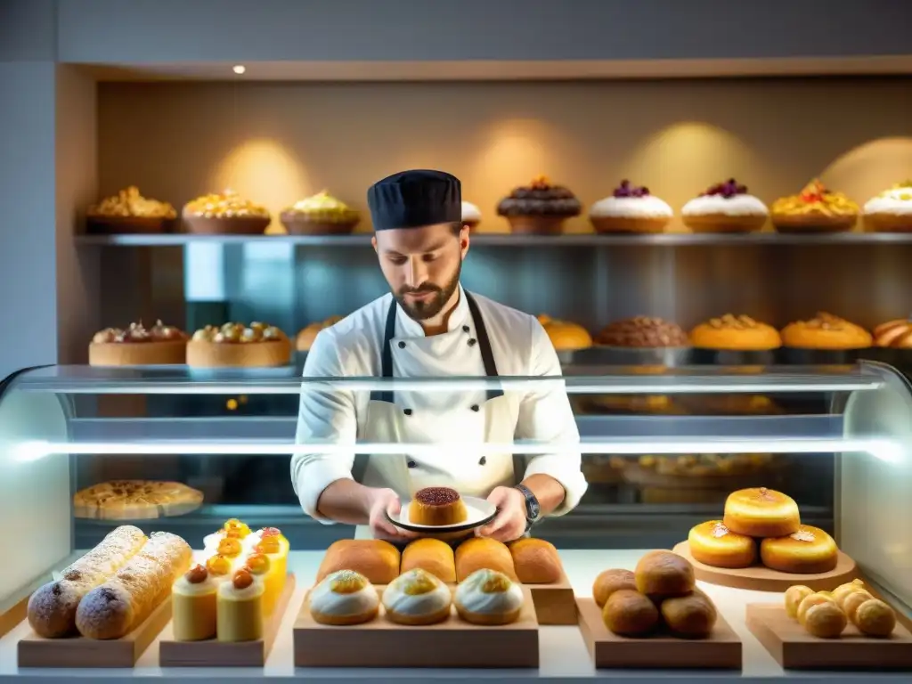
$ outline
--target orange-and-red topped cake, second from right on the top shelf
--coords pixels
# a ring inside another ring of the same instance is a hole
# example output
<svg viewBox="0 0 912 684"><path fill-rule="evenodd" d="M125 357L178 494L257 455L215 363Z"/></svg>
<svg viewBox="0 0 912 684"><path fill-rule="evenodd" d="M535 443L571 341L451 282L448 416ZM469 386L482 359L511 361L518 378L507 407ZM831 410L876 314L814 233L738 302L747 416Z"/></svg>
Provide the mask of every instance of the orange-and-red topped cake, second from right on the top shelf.
<svg viewBox="0 0 912 684"><path fill-rule="evenodd" d="M858 218L858 205L821 181L811 181L802 192L772 202L772 224L781 233L849 231Z"/></svg>

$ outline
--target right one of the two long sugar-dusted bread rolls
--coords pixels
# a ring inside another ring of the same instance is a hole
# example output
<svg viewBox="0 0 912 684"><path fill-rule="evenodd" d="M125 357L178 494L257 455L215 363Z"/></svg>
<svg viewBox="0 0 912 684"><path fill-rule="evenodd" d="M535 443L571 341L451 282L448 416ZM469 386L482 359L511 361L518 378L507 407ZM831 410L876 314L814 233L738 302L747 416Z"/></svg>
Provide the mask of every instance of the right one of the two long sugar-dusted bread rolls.
<svg viewBox="0 0 912 684"><path fill-rule="evenodd" d="M76 627L83 637L125 637L171 594L190 567L192 549L176 534L152 533L149 541L109 581L79 603Z"/></svg>

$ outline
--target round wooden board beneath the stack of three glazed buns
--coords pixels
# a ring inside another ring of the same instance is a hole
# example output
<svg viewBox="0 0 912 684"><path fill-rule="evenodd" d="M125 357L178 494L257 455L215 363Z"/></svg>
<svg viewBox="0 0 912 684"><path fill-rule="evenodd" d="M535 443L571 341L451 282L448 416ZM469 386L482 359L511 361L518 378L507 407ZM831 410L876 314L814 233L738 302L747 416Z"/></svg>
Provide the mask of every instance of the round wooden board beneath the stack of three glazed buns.
<svg viewBox="0 0 912 684"><path fill-rule="evenodd" d="M700 561L694 560L693 556L690 555L690 544L687 542L681 542L675 546L674 552L688 559L690 565L693 565L693 572L697 579L709 582L710 585L731 586L735 589L782 592L790 586L804 585L809 586L814 591L830 591L839 585L851 582L858 576L858 568L855 565L855 561L842 551L839 552L839 560L833 570L828 573L816 573L814 575L781 573L763 565L742 568L704 565Z"/></svg>

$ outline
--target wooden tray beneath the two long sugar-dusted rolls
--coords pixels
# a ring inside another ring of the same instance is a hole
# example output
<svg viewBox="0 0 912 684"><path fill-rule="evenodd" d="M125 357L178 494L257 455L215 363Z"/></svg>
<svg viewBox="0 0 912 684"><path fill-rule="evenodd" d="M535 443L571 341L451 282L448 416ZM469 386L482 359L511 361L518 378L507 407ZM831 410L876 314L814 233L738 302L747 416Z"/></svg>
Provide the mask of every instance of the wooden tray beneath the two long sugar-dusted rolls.
<svg viewBox="0 0 912 684"><path fill-rule="evenodd" d="M19 639L20 668L132 668L171 619L171 596L126 637L47 639L30 632Z"/></svg>

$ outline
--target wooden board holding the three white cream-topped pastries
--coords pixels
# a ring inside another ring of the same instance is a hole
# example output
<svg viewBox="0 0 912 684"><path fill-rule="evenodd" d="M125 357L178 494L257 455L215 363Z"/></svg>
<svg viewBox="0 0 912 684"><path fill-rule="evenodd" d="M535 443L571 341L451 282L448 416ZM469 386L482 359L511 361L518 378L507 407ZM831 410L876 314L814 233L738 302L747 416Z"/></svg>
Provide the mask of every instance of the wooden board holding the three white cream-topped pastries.
<svg viewBox="0 0 912 684"><path fill-rule="evenodd" d="M382 592L384 586L378 586ZM380 615L364 625L331 627L310 617L306 596L295 621L298 668L537 668L538 621L532 596L512 625L463 622L453 608L437 625L406 627Z"/></svg>

